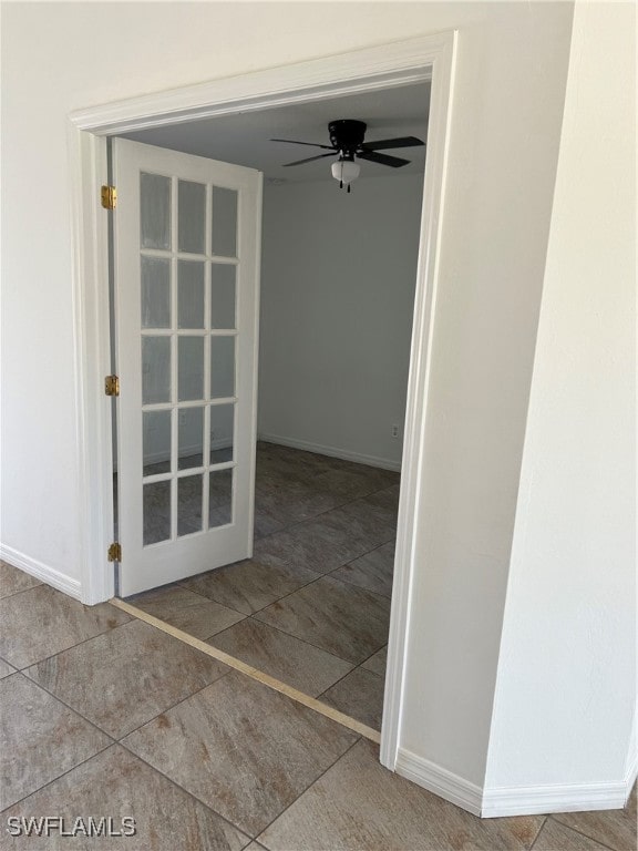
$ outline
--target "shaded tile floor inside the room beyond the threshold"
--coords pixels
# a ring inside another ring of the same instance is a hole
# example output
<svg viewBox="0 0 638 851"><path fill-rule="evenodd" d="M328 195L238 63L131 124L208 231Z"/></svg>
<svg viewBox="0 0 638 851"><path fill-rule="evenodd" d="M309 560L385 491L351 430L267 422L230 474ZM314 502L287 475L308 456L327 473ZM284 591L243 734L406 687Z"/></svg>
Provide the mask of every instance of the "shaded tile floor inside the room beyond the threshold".
<svg viewBox="0 0 638 851"><path fill-rule="evenodd" d="M259 443L254 557L128 602L379 730L398 501L399 473Z"/></svg>

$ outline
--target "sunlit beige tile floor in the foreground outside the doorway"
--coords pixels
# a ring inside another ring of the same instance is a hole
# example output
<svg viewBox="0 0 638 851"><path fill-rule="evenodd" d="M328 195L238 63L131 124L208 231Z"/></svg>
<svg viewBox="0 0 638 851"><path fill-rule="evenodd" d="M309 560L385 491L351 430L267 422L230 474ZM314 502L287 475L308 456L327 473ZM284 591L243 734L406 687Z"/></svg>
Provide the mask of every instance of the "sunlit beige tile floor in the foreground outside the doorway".
<svg viewBox="0 0 638 851"><path fill-rule="evenodd" d="M0 604L3 849L636 851L636 792L625 810L481 820L387 771L351 730L109 604L6 563ZM66 830L127 817L136 833L7 830L45 816Z"/></svg>

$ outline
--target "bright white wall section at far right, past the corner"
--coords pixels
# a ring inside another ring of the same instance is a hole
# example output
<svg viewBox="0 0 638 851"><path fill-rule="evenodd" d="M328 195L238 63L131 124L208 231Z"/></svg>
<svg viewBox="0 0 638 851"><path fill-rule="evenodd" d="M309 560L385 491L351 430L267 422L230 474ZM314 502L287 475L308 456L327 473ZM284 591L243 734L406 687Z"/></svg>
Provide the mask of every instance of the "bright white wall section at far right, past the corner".
<svg viewBox="0 0 638 851"><path fill-rule="evenodd" d="M632 4L577 3L492 722L496 789L625 779L636 706L635 57Z"/></svg>

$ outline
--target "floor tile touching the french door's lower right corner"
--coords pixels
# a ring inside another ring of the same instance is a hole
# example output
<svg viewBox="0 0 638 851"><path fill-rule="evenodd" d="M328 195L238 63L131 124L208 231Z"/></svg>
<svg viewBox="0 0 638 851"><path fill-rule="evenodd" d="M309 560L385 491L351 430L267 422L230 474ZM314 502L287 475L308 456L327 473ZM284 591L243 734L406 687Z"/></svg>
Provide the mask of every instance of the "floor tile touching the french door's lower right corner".
<svg viewBox="0 0 638 851"><path fill-rule="evenodd" d="M307 585L317 573L289 564L261 564L248 558L185 580L185 588L228 608L250 615L276 599Z"/></svg>

